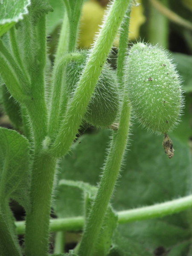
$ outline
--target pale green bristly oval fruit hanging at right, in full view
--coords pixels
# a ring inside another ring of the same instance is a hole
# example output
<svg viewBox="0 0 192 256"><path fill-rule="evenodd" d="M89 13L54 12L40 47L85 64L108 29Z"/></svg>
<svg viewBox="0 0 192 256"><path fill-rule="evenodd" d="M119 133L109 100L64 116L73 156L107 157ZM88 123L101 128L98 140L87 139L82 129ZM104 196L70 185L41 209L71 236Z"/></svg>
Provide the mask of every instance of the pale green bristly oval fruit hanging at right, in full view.
<svg viewBox="0 0 192 256"><path fill-rule="evenodd" d="M168 53L137 43L129 51L125 70L134 115L143 127L165 134L177 124L183 107L180 79Z"/></svg>

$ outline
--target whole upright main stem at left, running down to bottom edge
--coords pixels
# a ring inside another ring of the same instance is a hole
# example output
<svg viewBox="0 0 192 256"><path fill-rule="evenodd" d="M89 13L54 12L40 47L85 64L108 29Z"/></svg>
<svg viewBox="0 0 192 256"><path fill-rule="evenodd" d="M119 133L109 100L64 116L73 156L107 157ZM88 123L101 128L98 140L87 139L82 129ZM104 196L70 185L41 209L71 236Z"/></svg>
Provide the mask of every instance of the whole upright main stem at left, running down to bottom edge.
<svg viewBox="0 0 192 256"><path fill-rule="evenodd" d="M47 135L47 106L45 102L44 68L46 63L45 15L36 25L36 54L31 73L31 99L26 104L35 141L31 178L32 210L26 215L26 256L47 256L49 237L49 217L52 186L56 159L43 153L42 142Z"/></svg>

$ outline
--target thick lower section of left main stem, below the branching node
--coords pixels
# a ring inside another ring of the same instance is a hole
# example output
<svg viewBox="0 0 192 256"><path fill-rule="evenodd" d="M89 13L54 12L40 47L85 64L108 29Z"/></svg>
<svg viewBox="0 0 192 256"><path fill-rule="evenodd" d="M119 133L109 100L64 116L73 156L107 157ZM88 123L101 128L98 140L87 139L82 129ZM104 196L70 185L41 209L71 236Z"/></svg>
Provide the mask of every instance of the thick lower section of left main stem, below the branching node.
<svg viewBox="0 0 192 256"><path fill-rule="evenodd" d="M26 215L26 256L47 256L50 204L56 159L48 154L34 156L32 172L32 210Z"/></svg>

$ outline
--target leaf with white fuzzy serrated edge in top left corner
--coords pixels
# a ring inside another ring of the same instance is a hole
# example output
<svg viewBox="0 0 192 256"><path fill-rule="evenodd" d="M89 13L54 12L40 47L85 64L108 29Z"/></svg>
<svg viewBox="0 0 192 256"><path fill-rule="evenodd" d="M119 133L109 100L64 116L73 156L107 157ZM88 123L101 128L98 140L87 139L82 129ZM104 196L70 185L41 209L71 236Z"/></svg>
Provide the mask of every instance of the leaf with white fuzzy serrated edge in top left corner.
<svg viewBox="0 0 192 256"><path fill-rule="evenodd" d="M28 14L30 0L1 0L0 1L0 36L6 33L15 23Z"/></svg>

